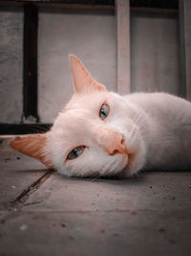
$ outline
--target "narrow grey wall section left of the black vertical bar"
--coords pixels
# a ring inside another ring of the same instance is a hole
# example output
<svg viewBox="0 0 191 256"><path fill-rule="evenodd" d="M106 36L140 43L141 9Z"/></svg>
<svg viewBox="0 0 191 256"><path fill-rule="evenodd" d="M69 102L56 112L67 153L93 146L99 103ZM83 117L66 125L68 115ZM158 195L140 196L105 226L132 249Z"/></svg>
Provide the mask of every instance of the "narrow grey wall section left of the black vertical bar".
<svg viewBox="0 0 191 256"><path fill-rule="evenodd" d="M19 123L22 115L23 12L0 11L0 123Z"/></svg>

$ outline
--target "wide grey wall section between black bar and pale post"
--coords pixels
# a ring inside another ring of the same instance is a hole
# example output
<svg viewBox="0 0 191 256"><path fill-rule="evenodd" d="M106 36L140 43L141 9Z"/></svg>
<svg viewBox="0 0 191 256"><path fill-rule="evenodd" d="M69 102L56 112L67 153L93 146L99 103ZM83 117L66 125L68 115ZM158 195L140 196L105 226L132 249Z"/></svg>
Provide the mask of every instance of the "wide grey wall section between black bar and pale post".
<svg viewBox="0 0 191 256"><path fill-rule="evenodd" d="M116 90L116 18L113 15L39 13L39 116L53 122L73 94L69 54L94 78Z"/></svg>

